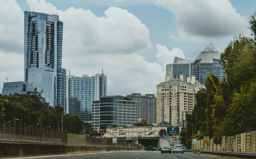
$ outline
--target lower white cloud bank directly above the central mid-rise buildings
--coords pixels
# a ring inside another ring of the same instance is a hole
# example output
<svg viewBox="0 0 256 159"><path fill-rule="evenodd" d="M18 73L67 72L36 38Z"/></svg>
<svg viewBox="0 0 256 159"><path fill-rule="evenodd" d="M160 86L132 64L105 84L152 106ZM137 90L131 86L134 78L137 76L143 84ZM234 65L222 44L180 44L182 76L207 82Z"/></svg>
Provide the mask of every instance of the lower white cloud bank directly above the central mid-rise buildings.
<svg viewBox="0 0 256 159"><path fill-rule="evenodd" d="M71 74L93 76L103 72L107 75L108 95L123 95L131 93L156 94L156 85L164 80L165 73L156 62L147 62L136 53L125 55L84 55L66 58L63 63L69 64ZM67 70L67 73L69 70Z"/></svg>

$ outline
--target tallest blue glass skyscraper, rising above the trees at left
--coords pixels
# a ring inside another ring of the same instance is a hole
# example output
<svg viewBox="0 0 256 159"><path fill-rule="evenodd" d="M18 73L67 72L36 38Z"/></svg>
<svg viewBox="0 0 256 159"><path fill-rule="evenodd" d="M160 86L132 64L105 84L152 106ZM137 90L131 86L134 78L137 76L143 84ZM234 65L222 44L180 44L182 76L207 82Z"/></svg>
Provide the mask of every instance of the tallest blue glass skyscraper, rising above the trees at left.
<svg viewBox="0 0 256 159"><path fill-rule="evenodd" d="M66 70L61 68L63 22L58 15L25 11L24 78L51 106L66 107Z"/></svg>

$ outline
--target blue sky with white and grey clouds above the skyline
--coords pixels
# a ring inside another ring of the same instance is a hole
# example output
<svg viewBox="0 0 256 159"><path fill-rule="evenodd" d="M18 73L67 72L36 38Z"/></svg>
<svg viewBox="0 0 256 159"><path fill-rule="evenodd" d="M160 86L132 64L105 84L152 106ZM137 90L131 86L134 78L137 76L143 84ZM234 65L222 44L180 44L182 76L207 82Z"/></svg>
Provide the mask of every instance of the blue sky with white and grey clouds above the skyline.
<svg viewBox="0 0 256 159"><path fill-rule="evenodd" d="M255 0L0 0L0 93L24 81L24 11L63 21L62 67L107 76L107 95L156 94L165 65L250 36Z"/></svg>

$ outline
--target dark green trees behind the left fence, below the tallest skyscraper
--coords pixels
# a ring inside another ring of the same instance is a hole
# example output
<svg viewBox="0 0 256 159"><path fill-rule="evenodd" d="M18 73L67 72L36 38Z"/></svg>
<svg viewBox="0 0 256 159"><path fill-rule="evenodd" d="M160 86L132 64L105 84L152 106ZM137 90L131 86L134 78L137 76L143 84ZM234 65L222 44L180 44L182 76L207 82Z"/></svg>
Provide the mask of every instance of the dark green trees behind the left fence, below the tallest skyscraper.
<svg viewBox="0 0 256 159"><path fill-rule="evenodd" d="M0 120L9 121L14 117L19 122L28 124L39 123L40 127L61 127L63 108L59 105L46 107L36 95L13 94L0 95ZM82 130L82 122L77 116L63 116L63 128L72 133Z"/></svg>

